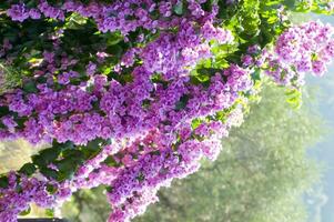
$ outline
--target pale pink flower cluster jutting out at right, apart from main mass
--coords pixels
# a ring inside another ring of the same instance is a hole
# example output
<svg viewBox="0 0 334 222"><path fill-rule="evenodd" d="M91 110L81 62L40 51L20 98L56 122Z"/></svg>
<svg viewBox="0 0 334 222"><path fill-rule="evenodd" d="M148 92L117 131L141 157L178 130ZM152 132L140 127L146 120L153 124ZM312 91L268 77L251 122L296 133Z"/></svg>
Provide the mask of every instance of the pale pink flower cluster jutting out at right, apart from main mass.
<svg viewBox="0 0 334 222"><path fill-rule="evenodd" d="M334 58L333 27L311 21L286 30L273 51L264 51L266 73L280 84L300 87L305 73L323 75Z"/></svg>

